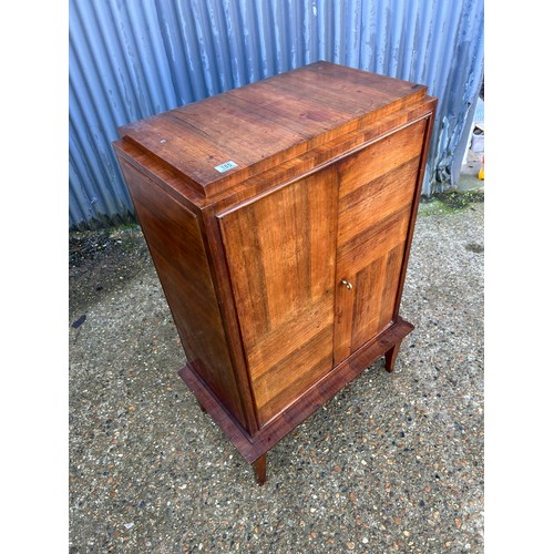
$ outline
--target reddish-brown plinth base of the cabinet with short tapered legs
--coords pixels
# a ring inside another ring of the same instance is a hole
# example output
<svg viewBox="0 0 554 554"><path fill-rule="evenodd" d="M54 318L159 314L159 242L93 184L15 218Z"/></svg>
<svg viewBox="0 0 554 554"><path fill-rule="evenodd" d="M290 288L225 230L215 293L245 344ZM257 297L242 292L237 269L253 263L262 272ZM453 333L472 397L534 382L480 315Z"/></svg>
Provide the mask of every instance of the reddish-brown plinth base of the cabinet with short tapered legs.
<svg viewBox="0 0 554 554"><path fill-rule="evenodd" d="M219 403L197 376L192 365L186 363L178 371L178 375L243 458L253 464L258 482L263 484L265 481L265 453L381 356L386 356L387 370L392 371L400 343L412 330L413 325L399 317L373 341L362 346L335 367L296 402L254 435L248 434Z"/></svg>

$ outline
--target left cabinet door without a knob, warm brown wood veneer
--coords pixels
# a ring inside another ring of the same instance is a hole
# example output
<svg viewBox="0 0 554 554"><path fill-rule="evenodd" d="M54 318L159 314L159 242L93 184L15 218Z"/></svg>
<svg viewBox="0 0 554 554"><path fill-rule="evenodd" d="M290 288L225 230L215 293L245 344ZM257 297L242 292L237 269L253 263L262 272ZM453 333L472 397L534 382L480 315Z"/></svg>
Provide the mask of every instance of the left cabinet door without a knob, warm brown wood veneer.
<svg viewBox="0 0 554 554"><path fill-rule="evenodd" d="M218 215L260 424L332 368L336 167Z"/></svg>

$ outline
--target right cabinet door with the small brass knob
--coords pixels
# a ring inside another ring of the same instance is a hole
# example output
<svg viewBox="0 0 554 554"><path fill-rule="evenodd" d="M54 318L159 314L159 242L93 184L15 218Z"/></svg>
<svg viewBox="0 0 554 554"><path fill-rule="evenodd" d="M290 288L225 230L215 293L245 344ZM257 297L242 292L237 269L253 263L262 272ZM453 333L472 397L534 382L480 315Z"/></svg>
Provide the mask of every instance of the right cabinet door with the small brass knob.
<svg viewBox="0 0 554 554"><path fill-rule="evenodd" d="M427 120L337 164L335 363L396 318Z"/></svg>

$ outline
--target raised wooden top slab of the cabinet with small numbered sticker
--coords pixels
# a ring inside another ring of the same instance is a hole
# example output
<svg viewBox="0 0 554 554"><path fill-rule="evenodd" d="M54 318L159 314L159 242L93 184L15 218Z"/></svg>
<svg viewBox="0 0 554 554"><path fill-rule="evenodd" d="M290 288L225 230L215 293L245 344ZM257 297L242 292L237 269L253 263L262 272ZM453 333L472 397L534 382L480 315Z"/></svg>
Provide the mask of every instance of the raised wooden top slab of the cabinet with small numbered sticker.
<svg viewBox="0 0 554 554"><path fill-rule="evenodd" d="M421 102L425 92L421 84L320 61L119 132L211 196Z"/></svg>

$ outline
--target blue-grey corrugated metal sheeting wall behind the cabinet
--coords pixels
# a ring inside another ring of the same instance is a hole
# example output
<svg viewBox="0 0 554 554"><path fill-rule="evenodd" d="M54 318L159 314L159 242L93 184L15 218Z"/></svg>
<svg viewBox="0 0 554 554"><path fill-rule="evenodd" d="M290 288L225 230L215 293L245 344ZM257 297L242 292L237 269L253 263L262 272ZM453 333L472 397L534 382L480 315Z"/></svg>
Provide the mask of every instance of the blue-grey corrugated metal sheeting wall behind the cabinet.
<svg viewBox="0 0 554 554"><path fill-rule="evenodd" d="M440 191L479 96L483 12L483 0L70 0L70 225L133 219L117 126L318 60L429 86L423 193Z"/></svg>

